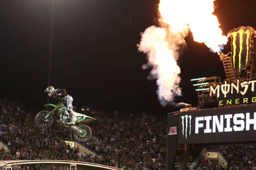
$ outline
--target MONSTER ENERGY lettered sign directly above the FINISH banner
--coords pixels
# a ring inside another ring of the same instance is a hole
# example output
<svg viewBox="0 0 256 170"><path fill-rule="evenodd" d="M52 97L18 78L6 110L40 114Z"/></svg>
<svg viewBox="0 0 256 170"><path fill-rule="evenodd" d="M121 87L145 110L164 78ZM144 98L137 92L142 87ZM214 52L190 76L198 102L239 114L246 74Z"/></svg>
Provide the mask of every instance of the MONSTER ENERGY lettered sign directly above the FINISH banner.
<svg viewBox="0 0 256 170"><path fill-rule="evenodd" d="M256 79L224 81L209 87L209 96L216 96L218 106L256 103Z"/></svg>

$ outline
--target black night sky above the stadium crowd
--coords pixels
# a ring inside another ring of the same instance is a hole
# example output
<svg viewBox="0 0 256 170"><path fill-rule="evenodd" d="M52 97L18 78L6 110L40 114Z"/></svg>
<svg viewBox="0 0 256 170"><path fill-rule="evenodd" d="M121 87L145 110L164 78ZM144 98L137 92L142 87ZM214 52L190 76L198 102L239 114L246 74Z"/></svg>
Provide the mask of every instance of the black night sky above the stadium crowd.
<svg viewBox="0 0 256 170"><path fill-rule="evenodd" d="M51 85L65 88L77 107L134 114L176 111L158 102L155 81L147 79L150 69L142 69L146 55L136 46L141 32L158 26L158 2L55 0ZM0 98L20 99L40 110L46 104L52 0L0 4ZM255 5L255 0L216 0L214 14L223 33L240 26L256 28ZM183 96L176 101L196 106L190 79L220 76L224 80L225 73L217 54L194 42L191 34L186 41L178 60ZM224 53L230 51L229 43Z"/></svg>

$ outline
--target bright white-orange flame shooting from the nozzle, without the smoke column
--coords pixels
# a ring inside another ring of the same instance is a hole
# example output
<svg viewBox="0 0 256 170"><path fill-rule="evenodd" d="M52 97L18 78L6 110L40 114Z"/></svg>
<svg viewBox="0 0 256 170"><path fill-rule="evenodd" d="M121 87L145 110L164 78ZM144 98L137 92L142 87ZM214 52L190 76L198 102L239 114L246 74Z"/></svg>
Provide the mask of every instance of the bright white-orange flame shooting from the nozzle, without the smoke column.
<svg viewBox="0 0 256 170"><path fill-rule="evenodd" d="M214 0L160 0L160 22L169 25L172 32L187 35L188 29L193 33L194 41L204 42L214 52L228 41L217 16L213 15Z"/></svg>

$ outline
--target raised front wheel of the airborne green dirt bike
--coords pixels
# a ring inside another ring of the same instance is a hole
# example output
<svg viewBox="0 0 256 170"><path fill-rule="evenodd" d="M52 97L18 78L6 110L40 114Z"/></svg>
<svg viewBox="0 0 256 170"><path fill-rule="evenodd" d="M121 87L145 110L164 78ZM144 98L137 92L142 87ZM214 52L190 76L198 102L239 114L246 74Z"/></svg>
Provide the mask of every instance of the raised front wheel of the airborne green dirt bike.
<svg viewBox="0 0 256 170"><path fill-rule="evenodd" d="M34 122L38 128L46 129L53 124L52 114L50 114L47 118L45 118L48 113L49 113L48 111L40 111L36 114L34 118Z"/></svg>

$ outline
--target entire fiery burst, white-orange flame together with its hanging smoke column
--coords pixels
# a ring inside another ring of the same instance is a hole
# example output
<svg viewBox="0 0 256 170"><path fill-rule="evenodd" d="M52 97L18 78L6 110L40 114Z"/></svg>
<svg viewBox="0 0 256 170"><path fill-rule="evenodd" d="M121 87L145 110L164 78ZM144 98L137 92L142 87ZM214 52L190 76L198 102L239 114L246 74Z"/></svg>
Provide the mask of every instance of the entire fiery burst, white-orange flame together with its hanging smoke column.
<svg viewBox="0 0 256 170"><path fill-rule="evenodd" d="M186 106L186 103L175 103L175 97L181 96L177 60L182 46L186 45L185 37L190 29L194 41L204 42L213 52L223 49L227 38L222 35L218 18L213 15L214 0L160 0L160 27L151 26L141 34L138 50L148 56L148 63L143 69L152 68L149 79L156 79L158 98L165 106Z"/></svg>

